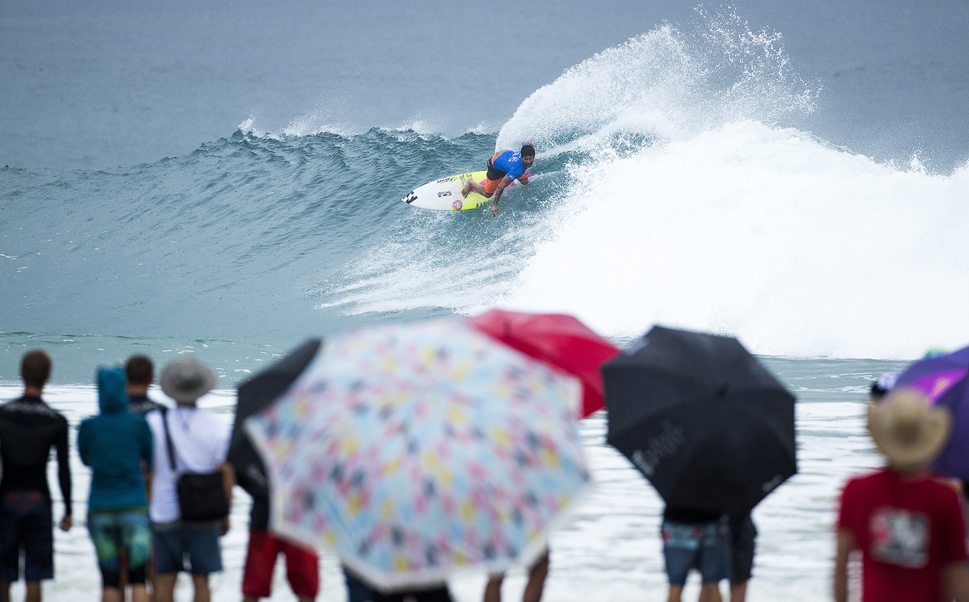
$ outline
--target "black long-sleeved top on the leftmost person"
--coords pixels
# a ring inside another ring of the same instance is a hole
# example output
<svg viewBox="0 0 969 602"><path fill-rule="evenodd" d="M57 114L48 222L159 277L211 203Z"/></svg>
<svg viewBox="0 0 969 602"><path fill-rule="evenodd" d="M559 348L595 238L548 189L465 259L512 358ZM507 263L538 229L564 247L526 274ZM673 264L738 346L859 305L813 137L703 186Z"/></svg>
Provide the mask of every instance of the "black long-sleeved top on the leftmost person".
<svg viewBox="0 0 969 602"><path fill-rule="evenodd" d="M57 450L57 476L64 511L71 514L71 468L68 464L67 419L41 401L22 396L0 405L0 458L3 478L0 496L8 491L40 491L50 504L47 459Z"/></svg>

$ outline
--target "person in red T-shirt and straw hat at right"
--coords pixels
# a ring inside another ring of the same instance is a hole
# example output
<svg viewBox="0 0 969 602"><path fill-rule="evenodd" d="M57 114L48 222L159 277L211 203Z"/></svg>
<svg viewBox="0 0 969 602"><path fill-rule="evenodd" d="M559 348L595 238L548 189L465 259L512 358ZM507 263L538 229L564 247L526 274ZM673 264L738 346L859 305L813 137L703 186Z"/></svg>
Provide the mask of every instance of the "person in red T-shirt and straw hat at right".
<svg viewBox="0 0 969 602"><path fill-rule="evenodd" d="M861 552L866 602L969 601L958 494L927 467L946 444L948 411L909 391L868 406L868 429L888 465L848 481L841 494L834 599L848 600L848 556Z"/></svg>

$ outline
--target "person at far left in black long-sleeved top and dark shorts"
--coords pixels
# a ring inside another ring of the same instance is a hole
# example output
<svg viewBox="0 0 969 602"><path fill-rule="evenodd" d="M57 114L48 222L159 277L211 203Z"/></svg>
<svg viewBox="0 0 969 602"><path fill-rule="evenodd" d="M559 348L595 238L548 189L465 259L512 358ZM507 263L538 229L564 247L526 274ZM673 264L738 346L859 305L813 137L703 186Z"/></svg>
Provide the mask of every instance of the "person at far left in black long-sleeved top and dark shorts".
<svg viewBox="0 0 969 602"><path fill-rule="evenodd" d="M39 349L20 362L23 396L0 406L0 599L10 599L10 584L27 583L27 602L40 602L41 580L53 579L53 519L47 487L50 447L57 450L57 477L64 498L61 530L71 528L71 469L67 420L41 400L50 377L50 358Z"/></svg>

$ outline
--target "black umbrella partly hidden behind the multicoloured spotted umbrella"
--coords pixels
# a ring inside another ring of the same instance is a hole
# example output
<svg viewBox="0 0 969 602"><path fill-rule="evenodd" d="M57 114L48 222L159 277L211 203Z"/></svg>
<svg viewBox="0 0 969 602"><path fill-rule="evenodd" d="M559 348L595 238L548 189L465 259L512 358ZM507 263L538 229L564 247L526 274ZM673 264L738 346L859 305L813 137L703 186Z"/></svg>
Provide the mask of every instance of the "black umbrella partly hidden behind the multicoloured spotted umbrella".
<svg viewBox="0 0 969 602"><path fill-rule="evenodd" d="M321 343L319 338L307 340L285 358L238 386L229 461L235 468L236 482L253 497L267 498L269 495L266 467L253 449L242 422L282 395L316 356Z"/></svg>

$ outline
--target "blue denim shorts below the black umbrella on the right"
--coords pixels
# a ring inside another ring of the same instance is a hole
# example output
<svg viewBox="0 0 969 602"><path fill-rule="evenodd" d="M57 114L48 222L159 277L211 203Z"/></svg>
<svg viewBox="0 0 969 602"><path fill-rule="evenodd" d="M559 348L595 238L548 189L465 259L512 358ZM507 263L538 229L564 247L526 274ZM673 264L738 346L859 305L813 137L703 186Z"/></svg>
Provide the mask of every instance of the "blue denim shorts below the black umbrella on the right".
<svg viewBox="0 0 969 602"><path fill-rule="evenodd" d="M700 571L704 584L731 577L730 525L663 523L663 555L671 586L682 586L690 569Z"/></svg>

